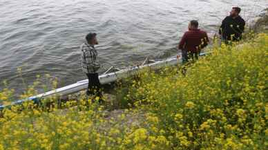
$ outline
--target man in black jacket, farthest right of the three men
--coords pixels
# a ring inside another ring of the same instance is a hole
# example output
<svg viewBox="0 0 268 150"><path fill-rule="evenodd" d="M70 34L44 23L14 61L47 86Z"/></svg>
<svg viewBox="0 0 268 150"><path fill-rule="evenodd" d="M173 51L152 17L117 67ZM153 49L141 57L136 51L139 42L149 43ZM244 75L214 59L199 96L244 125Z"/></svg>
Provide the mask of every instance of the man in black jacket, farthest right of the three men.
<svg viewBox="0 0 268 150"><path fill-rule="evenodd" d="M242 32L245 30L245 21L240 17L241 8L232 8L230 15L222 21L219 34L227 43L228 41L240 41Z"/></svg>

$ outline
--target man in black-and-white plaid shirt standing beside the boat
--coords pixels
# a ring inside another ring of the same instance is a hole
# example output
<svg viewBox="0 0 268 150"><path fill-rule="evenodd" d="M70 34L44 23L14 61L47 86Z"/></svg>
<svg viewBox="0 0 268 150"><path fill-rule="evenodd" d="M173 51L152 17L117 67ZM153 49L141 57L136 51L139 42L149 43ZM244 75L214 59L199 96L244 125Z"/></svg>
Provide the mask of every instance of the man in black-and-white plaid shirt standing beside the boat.
<svg viewBox="0 0 268 150"><path fill-rule="evenodd" d="M83 72L88 76L88 91L86 91L86 95L94 95L101 99L102 91L99 74L97 73L100 65L97 61L97 50L94 47L98 44L96 36L97 34L92 32L86 35L86 42L81 46L81 59Z"/></svg>

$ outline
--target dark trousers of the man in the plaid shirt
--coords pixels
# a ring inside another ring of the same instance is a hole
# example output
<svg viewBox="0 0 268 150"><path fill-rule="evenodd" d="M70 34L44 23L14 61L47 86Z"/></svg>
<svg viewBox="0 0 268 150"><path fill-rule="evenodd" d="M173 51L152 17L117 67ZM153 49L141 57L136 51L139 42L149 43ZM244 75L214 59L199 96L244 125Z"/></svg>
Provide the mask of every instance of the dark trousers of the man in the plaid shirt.
<svg viewBox="0 0 268 150"><path fill-rule="evenodd" d="M99 74L88 73L86 75L88 76L88 91L86 91L86 95L102 98L102 89L99 82Z"/></svg>

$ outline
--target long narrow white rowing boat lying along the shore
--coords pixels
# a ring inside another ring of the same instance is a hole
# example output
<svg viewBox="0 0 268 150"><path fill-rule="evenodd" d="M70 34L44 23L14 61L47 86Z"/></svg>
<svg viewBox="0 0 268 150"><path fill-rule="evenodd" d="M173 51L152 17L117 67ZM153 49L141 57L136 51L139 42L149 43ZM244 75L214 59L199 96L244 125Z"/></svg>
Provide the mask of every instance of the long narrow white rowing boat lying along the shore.
<svg viewBox="0 0 268 150"><path fill-rule="evenodd" d="M200 56L204 56L206 54L207 53L201 53ZM119 79L125 79L127 77L131 77L133 75L136 75L142 68L157 69L157 68L162 68L164 66L173 66L176 64L181 64L182 59L181 59L181 57L175 56L175 57L170 57L169 59L164 59L164 60L160 60L160 61L151 60L151 61L149 61L149 62L151 62L149 64L146 64L146 62L148 62L147 59L144 61L144 63L141 66L132 66L130 68L119 70L119 71L116 71L113 73L108 73L108 71L106 71L106 73L104 73L103 75L99 75L99 82L102 85L109 84L112 82L116 82ZM10 104L8 106L1 105L0 110L3 110L5 108L10 108L13 105L22 104L23 102L28 102L28 101L40 102L42 99L52 97L52 96L63 97L66 95L77 93L79 91L83 91L87 87L88 87L88 79L84 79L84 80L79 81L75 84L70 84L68 86L64 86L62 88L57 88L55 90L48 91L46 93L42 93L39 95L28 97L26 100L17 100L15 102L12 102L12 104Z"/></svg>

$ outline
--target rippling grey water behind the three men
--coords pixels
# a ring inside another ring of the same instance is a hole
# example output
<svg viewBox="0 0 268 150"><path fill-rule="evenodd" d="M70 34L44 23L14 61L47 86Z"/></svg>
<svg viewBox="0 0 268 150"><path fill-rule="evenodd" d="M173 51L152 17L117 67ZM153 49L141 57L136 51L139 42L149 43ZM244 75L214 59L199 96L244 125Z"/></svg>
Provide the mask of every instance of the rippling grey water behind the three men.
<svg viewBox="0 0 268 150"><path fill-rule="evenodd" d="M97 32L99 58L109 66L129 66L145 57L166 57L191 19L216 32L232 6L250 19L267 0L0 0L0 82L23 89L17 68L30 84L36 75L59 78L59 86L86 76L79 64L85 35ZM0 89L3 88L0 84Z"/></svg>

